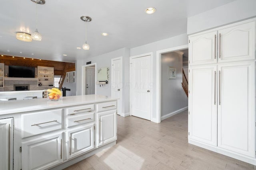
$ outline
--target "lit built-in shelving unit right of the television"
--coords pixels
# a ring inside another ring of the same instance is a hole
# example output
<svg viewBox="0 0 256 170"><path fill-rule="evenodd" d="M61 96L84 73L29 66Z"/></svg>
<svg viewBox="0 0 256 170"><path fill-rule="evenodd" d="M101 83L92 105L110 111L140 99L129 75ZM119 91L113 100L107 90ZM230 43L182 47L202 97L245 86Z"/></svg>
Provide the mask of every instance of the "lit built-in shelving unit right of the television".
<svg viewBox="0 0 256 170"><path fill-rule="evenodd" d="M38 86L54 85L54 67L38 66Z"/></svg>

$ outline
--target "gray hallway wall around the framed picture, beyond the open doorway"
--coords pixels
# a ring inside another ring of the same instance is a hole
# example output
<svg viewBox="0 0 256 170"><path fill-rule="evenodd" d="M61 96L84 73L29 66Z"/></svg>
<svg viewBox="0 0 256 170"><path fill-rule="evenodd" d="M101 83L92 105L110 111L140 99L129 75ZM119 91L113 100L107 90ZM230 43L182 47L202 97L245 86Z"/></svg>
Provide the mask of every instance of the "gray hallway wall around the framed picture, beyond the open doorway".
<svg viewBox="0 0 256 170"><path fill-rule="evenodd" d="M168 66L176 68L176 79L168 79ZM172 52L161 57L161 116L188 106L182 86L182 55Z"/></svg>

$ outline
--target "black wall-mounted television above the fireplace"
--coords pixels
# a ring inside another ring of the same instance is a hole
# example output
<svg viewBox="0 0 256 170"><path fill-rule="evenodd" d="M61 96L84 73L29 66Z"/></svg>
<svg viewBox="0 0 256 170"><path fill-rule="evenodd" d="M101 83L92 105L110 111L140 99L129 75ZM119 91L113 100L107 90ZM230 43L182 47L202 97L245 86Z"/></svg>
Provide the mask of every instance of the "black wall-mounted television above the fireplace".
<svg viewBox="0 0 256 170"><path fill-rule="evenodd" d="M9 77L34 78L35 68L26 66L9 66Z"/></svg>

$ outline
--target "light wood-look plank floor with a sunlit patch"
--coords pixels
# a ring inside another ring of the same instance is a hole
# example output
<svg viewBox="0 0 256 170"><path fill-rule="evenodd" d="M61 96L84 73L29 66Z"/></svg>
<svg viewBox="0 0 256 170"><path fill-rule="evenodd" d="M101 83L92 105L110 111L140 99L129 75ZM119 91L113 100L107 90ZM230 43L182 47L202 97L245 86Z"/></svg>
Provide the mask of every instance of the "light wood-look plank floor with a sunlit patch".
<svg viewBox="0 0 256 170"><path fill-rule="evenodd" d="M188 144L188 111L162 123L118 116L118 140L65 170L248 170L256 166Z"/></svg>

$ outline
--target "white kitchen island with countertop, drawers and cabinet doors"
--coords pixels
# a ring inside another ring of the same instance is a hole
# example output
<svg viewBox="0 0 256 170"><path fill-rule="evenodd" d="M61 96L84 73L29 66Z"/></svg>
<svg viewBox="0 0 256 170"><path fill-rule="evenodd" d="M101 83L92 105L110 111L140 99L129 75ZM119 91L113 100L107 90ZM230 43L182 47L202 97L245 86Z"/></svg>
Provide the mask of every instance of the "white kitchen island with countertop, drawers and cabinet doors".
<svg viewBox="0 0 256 170"><path fill-rule="evenodd" d="M63 169L116 144L117 99L0 101L0 169Z"/></svg>

